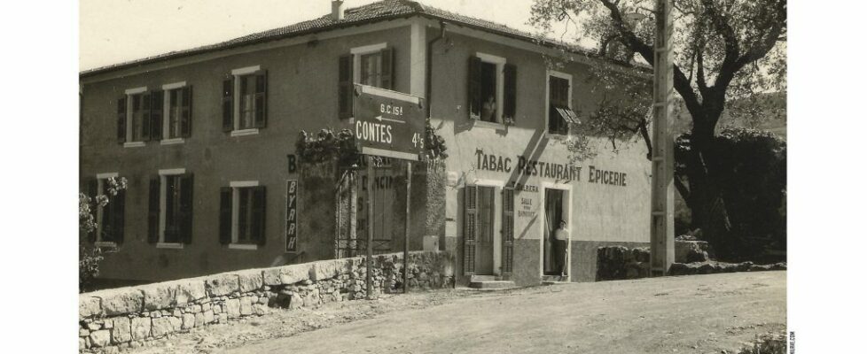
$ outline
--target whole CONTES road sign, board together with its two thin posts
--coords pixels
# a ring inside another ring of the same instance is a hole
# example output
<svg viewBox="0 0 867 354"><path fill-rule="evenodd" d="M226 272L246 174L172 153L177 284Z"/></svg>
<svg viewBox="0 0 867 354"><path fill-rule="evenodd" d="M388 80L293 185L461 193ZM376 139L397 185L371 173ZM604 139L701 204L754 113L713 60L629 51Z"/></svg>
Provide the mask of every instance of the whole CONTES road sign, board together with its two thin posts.
<svg viewBox="0 0 867 354"><path fill-rule="evenodd" d="M410 179L412 161L425 151L423 100L387 89L355 85L353 118L349 119L355 145L367 159L367 298L373 291L373 156L407 160L406 228L403 235L403 292L409 287Z"/></svg>

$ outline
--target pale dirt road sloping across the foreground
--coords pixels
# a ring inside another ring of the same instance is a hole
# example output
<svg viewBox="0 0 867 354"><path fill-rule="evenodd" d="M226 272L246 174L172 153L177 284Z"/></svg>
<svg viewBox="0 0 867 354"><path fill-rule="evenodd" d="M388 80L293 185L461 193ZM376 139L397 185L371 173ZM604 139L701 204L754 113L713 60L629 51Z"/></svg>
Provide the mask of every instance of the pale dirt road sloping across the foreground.
<svg viewBox="0 0 867 354"><path fill-rule="evenodd" d="M754 335L785 331L785 274L725 273L390 296L379 301L329 304L331 307L314 312L276 312L139 350L733 352Z"/></svg>

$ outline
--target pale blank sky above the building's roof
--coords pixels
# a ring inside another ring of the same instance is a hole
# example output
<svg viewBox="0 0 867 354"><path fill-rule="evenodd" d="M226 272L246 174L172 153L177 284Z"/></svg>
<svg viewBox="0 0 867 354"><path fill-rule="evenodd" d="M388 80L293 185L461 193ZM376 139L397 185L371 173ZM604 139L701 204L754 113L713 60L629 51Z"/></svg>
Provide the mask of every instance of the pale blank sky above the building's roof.
<svg viewBox="0 0 867 354"><path fill-rule="evenodd" d="M345 8L376 0L346 0ZM533 0L421 0L527 32ZM81 0L81 70L223 42L331 12L331 0Z"/></svg>

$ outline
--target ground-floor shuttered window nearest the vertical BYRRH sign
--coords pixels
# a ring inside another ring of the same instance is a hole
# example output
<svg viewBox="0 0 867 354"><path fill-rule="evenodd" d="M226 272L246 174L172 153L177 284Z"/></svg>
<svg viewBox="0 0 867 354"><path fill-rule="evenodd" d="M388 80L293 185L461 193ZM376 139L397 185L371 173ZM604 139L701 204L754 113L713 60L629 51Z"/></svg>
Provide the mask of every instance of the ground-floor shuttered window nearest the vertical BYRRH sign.
<svg viewBox="0 0 867 354"><path fill-rule="evenodd" d="M265 187L259 181L220 189L220 243L247 250L265 243Z"/></svg>

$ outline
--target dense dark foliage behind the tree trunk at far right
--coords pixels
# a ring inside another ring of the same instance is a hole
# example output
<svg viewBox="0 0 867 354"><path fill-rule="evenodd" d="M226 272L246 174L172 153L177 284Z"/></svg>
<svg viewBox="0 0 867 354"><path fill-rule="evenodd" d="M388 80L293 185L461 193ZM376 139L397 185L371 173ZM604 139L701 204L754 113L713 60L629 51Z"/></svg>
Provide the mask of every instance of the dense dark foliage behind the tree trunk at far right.
<svg viewBox="0 0 867 354"><path fill-rule="evenodd" d="M684 173L694 153L691 135L676 140L676 173ZM785 250L786 143L749 128L725 128L707 151L708 173L728 208L730 235L716 240L718 258L761 260L766 249Z"/></svg>

